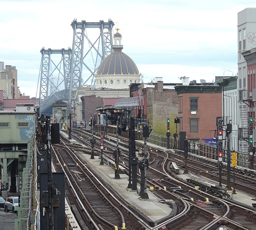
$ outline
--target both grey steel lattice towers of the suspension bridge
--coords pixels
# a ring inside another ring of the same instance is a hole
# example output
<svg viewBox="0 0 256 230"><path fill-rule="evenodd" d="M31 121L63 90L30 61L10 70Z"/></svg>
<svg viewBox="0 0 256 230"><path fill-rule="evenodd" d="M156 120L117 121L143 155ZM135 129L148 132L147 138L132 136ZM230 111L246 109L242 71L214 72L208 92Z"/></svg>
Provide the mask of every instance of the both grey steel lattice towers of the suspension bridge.
<svg viewBox="0 0 256 230"><path fill-rule="evenodd" d="M42 59L40 68L40 106L47 106L49 97L69 101L73 99L73 89L80 89L83 85L94 85L94 74L102 60L112 52L113 26L112 20L104 22L77 22L71 23L73 28L72 49L41 49ZM89 29L100 29L99 36L93 31L89 39ZM54 58L53 58L54 56ZM83 78L86 79L83 81ZM90 84L87 82L91 80ZM68 90L68 93L66 92ZM61 97L61 91L63 97ZM58 93L58 96L56 95ZM52 101L52 100L49 100Z"/></svg>

